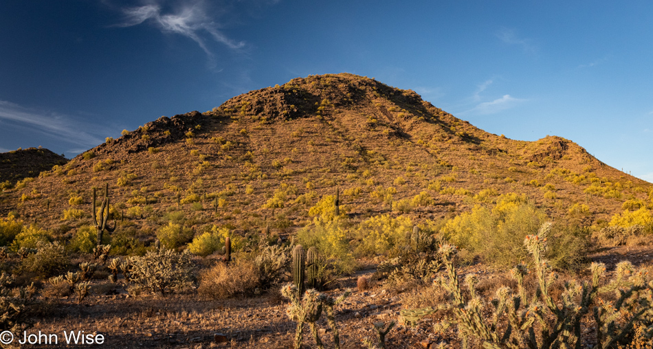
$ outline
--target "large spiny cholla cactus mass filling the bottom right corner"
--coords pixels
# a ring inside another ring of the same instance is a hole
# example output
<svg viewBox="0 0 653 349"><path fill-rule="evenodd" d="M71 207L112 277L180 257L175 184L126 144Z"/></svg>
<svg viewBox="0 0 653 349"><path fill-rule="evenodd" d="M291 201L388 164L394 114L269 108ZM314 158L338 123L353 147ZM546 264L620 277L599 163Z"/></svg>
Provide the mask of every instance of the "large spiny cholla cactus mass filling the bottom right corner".
<svg viewBox="0 0 653 349"><path fill-rule="evenodd" d="M590 266L591 282L565 282L560 300L554 300L549 290L557 274L544 259L550 229L551 223L544 223L538 234L529 235L524 240L534 260L538 282L535 289L526 289L524 275L529 271L525 264L519 264L511 272L518 284L516 292L507 286L498 289L491 302L493 315L490 320L483 316L487 313L484 311L487 302L476 294L475 276L465 278L469 289L466 299L453 265L456 249L451 245L441 247L447 280L439 280L439 284L452 297L445 307L452 310L450 321L458 325L463 348L467 348L467 338L478 339L484 348L493 349L580 348L582 326L591 326L586 319L590 313L596 322L595 348L614 348L632 333L634 325L641 319L653 316L653 281L643 271L635 271L630 262L617 264L615 278L604 286L600 284L606 267L602 263L593 263ZM598 297L610 292L617 294L617 301L604 302ZM410 311L402 313L414 315ZM507 327L500 333L498 323L502 321L507 322ZM445 326L448 325L439 325ZM645 337L653 335L653 328L645 331Z"/></svg>

